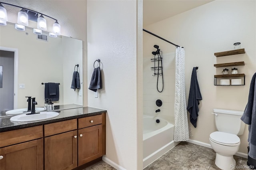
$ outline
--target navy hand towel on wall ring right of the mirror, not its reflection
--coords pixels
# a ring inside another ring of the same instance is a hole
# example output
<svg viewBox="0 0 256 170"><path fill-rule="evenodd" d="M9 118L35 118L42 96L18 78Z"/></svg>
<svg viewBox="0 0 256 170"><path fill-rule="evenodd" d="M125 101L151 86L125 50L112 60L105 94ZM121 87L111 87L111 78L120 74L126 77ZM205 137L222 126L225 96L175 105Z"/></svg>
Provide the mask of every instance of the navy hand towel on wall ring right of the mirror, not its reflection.
<svg viewBox="0 0 256 170"><path fill-rule="evenodd" d="M100 67L94 68L89 89L95 92L97 91L97 89L102 89Z"/></svg>

